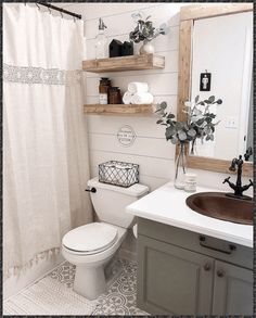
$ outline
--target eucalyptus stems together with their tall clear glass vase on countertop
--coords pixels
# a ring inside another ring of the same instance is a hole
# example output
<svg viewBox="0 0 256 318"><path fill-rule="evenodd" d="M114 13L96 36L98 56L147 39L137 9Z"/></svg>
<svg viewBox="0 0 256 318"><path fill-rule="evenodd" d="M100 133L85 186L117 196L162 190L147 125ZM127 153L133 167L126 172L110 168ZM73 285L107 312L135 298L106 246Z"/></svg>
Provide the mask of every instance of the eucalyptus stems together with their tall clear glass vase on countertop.
<svg viewBox="0 0 256 318"><path fill-rule="evenodd" d="M215 99L214 96L207 100L200 101L196 96L194 103L185 102L183 112L187 114L187 120L178 122L171 112L166 112L167 103L157 104L156 113L161 118L156 122L158 125L166 126L165 137L171 143L179 145L179 153L176 157L175 187L183 189L185 174L185 144L191 143L191 154L194 153L197 139L203 143L204 140L214 140L215 127L219 122L214 123L216 115L210 112L210 105L222 104L222 100Z"/></svg>

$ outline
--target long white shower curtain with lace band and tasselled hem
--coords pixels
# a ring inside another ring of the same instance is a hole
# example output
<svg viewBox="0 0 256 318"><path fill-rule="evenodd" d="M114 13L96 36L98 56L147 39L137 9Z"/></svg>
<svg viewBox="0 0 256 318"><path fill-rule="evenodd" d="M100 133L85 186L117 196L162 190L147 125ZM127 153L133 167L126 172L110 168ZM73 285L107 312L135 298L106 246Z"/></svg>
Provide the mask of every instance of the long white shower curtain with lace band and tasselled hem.
<svg viewBox="0 0 256 318"><path fill-rule="evenodd" d="M3 4L3 265L18 272L92 219L82 22Z"/></svg>

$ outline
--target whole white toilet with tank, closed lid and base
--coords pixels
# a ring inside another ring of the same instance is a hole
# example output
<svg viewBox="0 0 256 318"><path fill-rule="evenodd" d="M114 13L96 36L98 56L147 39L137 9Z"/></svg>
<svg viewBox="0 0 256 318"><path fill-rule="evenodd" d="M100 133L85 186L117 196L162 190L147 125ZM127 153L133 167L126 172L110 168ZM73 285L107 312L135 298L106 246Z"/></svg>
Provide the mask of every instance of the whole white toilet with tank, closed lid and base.
<svg viewBox="0 0 256 318"><path fill-rule="evenodd" d="M133 225L133 216L125 208L146 194L149 188L139 183L120 188L101 183L98 178L89 180L88 187L99 222L67 232L62 239L62 254L76 265L74 291L94 300L106 289L104 265L120 246L127 229Z"/></svg>

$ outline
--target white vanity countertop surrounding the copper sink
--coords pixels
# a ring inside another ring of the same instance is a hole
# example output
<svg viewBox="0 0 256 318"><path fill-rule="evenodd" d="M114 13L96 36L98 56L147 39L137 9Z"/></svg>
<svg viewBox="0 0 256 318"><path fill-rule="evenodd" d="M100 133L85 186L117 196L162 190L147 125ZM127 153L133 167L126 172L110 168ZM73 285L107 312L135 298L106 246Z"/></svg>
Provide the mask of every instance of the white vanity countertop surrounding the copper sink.
<svg viewBox="0 0 256 318"><path fill-rule="evenodd" d="M197 187L199 192L222 192ZM171 182L126 207L127 213L177 228L253 247L253 226L215 219L194 212L185 199L194 193L175 189Z"/></svg>

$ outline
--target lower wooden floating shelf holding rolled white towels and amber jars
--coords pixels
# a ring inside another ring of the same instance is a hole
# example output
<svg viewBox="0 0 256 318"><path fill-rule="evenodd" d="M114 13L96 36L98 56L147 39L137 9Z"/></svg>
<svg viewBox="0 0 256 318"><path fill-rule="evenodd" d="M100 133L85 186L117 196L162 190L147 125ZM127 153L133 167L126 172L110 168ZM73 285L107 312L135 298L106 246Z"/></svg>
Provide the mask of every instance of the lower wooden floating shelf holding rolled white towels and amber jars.
<svg viewBox="0 0 256 318"><path fill-rule="evenodd" d="M98 115L145 115L153 114L155 111L154 104L90 104L84 105L84 112L87 114Z"/></svg>

